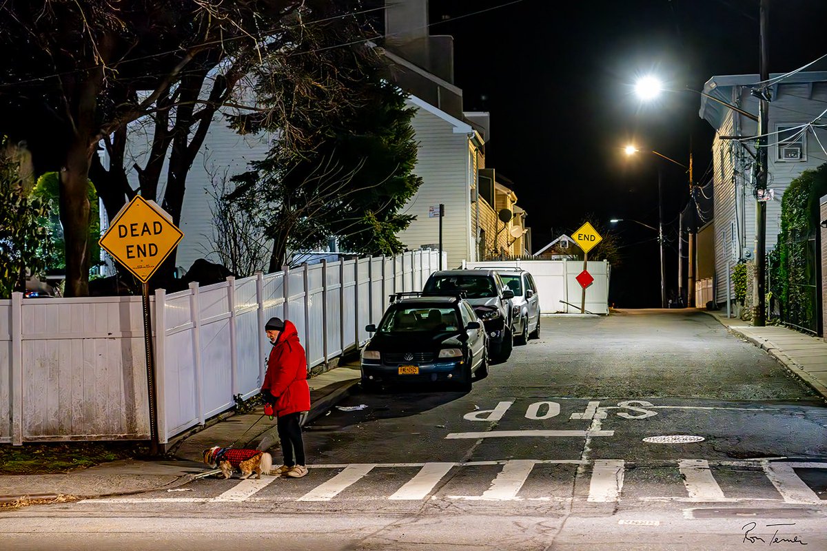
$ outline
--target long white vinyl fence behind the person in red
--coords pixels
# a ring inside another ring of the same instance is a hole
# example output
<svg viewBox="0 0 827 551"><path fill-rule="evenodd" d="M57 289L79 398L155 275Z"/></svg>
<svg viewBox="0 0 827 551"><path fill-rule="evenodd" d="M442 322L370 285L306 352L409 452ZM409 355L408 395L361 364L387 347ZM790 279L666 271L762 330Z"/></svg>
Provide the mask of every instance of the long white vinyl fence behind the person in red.
<svg viewBox="0 0 827 551"><path fill-rule="evenodd" d="M289 319L308 368L364 344L394 292L439 253L303 265L151 297L160 442L258 392L264 324ZM0 442L148 439L141 297L0 301Z"/></svg>

